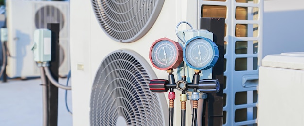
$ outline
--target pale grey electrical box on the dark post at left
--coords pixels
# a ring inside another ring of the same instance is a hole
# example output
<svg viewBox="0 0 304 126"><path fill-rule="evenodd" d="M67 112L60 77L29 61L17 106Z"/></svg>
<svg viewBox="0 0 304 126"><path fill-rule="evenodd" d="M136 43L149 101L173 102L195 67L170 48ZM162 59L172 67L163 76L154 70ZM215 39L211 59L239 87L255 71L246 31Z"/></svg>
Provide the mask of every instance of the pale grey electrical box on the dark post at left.
<svg viewBox="0 0 304 126"><path fill-rule="evenodd" d="M34 61L51 61L51 30L36 29L34 31L34 45L32 47Z"/></svg>

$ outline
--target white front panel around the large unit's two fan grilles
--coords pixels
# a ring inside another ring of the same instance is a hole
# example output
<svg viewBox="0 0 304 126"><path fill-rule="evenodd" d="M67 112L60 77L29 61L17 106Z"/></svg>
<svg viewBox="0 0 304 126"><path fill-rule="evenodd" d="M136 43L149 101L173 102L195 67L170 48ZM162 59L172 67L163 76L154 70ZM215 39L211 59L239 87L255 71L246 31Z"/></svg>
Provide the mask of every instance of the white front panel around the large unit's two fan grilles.
<svg viewBox="0 0 304 126"><path fill-rule="evenodd" d="M79 9L80 6L84 9ZM165 0L156 22L147 34L135 42L121 43L109 38L101 29L93 13L90 0L70 1L70 40L73 42L71 43L73 124L75 126L89 126L90 124L89 112L92 83L99 64L105 56L118 49L129 49L143 56L146 60L145 62L148 62L152 67L149 60L149 49L155 40L167 37L177 41L175 27L181 21L187 21L195 29L198 29L197 6L197 0ZM181 30L185 30L185 26L181 25ZM168 79L166 71L158 70L154 67L152 69L157 78ZM177 77L175 78L177 81ZM167 95L168 93L164 93L165 97ZM169 104L169 100L164 104ZM176 108L174 125L179 125L179 115L181 115L179 91L176 91L174 104ZM192 118L190 103L187 102L186 106L186 123L189 126Z"/></svg>

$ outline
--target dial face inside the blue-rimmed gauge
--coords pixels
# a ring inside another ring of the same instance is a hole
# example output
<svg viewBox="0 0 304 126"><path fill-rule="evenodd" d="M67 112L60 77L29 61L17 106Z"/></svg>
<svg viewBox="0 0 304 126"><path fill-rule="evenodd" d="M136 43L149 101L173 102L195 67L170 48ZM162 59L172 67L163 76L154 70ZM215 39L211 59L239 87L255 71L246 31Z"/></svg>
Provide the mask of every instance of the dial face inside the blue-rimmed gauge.
<svg viewBox="0 0 304 126"><path fill-rule="evenodd" d="M202 68L213 60L213 46L204 39L195 39L189 42L185 49L185 57L190 65Z"/></svg>

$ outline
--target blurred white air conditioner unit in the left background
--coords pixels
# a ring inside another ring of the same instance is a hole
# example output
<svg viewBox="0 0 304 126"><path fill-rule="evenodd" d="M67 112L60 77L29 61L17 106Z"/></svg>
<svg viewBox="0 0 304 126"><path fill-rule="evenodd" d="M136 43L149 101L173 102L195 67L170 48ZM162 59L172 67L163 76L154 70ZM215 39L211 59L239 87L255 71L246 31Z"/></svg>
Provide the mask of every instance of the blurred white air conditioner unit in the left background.
<svg viewBox="0 0 304 126"><path fill-rule="evenodd" d="M59 44L61 46L59 75L66 76L69 61L69 2L6 0L8 42L10 56L7 59L9 77L40 76L33 60L31 47L37 28L47 28L47 23L60 23Z"/></svg>

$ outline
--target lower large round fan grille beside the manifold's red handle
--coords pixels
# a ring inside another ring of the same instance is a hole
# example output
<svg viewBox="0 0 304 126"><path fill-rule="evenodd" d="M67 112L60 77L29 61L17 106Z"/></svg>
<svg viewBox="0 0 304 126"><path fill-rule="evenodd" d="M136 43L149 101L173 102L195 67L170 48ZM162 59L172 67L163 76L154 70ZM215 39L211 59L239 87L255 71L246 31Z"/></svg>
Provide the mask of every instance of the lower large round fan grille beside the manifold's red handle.
<svg viewBox="0 0 304 126"><path fill-rule="evenodd" d="M119 50L101 63L91 93L91 126L163 126L158 96L150 92L155 74L137 53Z"/></svg>

